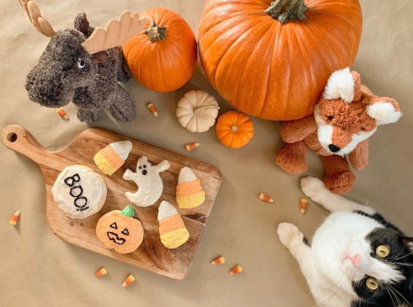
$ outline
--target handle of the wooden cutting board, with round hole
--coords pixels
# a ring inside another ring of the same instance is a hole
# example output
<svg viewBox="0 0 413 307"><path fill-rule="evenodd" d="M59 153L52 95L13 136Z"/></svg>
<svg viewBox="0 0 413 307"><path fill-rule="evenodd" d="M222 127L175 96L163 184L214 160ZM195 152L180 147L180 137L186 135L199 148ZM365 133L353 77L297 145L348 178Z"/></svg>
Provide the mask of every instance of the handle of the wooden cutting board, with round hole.
<svg viewBox="0 0 413 307"><path fill-rule="evenodd" d="M52 155L27 130L18 125L5 127L1 132L1 141L7 148L24 154L37 164L44 164Z"/></svg>

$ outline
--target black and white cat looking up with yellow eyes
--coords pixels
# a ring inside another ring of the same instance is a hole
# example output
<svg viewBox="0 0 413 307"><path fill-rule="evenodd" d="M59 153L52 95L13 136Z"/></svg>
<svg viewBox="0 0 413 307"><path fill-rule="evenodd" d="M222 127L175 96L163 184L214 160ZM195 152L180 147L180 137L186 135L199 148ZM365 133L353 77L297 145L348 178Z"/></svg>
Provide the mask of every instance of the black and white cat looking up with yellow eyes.
<svg viewBox="0 0 413 307"><path fill-rule="evenodd" d="M374 209L335 195L315 177L303 192L332 214L312 244L290 223L279 238L300 264L320 307L412 307L413 238Z"/></svg>

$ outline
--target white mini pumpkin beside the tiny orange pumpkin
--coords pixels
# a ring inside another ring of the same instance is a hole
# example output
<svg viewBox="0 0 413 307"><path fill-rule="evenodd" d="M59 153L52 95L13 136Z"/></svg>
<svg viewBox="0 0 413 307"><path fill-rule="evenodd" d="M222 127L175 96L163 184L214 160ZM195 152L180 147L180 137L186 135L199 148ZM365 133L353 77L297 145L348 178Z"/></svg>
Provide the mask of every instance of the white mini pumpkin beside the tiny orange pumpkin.
<svg viewBox="0 0 413 307"><path fill-rule="evenodd" d="M188 92L180 99L177 117L182 127L191 132L205 132L215 123L218 116L218 102L207 92Z"/></svg>

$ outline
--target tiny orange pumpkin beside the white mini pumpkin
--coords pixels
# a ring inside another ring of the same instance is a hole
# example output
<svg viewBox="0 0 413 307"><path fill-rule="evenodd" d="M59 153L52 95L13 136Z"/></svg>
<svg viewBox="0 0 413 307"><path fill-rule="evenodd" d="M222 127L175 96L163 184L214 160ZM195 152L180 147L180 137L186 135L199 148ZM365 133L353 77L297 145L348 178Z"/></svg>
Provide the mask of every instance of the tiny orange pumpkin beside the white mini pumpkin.
<svg viewBox="0 0 413 307"><path fill-rule="evenodd" d="M240 148L254 136L254 124L245 114L228 111L216 122L216 136L222 145Z"/></svg>

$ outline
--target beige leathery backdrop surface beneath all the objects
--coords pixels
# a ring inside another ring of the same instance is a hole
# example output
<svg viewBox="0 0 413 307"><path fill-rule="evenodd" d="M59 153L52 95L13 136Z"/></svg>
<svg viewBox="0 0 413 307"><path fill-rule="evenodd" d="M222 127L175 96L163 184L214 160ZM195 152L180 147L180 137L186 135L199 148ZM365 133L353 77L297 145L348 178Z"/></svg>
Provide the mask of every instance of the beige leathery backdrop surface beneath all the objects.
<svg viewBox="0 0 413 307"><path fill-rule="evenodd" d="M104 25L124 9L166 6L183 15L198 30L204 0L70 0L36 1L44 16L59 29L72 26L73 17L85 11L95 25ZM268 0L268 2L270 2ZM405 116L401 122L380 127L370 143L370 165L358 172L349 196L369 203L405 232L413 235L411 182L413 165L413 3L411 0L361 0L364 28L355 63L362 80L379 95L396 98ZM23 84L30 68L47 44L47 38L28 24L16 0L1 0L0 11L0 128L19 124L45 148L58 150L89 125L76 120L74 107L66 107L71 120L42 108L26 97ZM1 306L279 306L310 307L314 301L299 267L276 237L276 225L290 221L311 238L327 212L310 203L305 215L298 209L303 196L300 176L282 172L274 153L282 147L280 124L253 119L255 136L239 150L222 147L214 129L196 135L181 128L176 117L178 99L188 90L214 94L222 111L230 108L211 89L200 66L181 90L158 94L134 80L125 87L136 101L138 116L120 124L104 115L90 125L191 155L216 165L223 180L207 228L186 280L174 281L69 245L53 235L45 214L45 188L38 167L26 157L0 145L0 305ZM159 118L146 109L154 101ZM191 153L184 145L200 142ZM322 175L318 156L310 154L307 174ZM274 204L257 200L265 191ZM21 210L16 228L8 224ZM209 261L225 256L227 263L212 267ZM241 264L244 273L228 271ZM105 266L109 274L93 274ZM133 273L137 281L123 289Z"/></svg>

